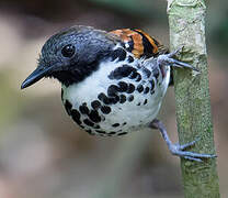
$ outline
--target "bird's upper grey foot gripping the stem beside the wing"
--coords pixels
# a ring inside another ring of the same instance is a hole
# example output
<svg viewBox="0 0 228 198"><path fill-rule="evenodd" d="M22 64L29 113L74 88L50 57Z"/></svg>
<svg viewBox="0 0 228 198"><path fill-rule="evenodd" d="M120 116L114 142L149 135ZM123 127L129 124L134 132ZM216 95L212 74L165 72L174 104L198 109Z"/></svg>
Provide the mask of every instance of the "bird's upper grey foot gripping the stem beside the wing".
<svg viewBox="0 0 228 198"><path fill-rule="evenodd" d="M173 58L173 56L176 55L180 51L182 51L182 48L183 47L180 47L179 50L176 50L172 53L159 55L158 58L157 58L158 64L163 65L163 66L190 68L190 69L193 69L193 70L200 73L200 70L197 68L193 67L192 65L190 65L187 63L180 62L180 61Z"/></svg>

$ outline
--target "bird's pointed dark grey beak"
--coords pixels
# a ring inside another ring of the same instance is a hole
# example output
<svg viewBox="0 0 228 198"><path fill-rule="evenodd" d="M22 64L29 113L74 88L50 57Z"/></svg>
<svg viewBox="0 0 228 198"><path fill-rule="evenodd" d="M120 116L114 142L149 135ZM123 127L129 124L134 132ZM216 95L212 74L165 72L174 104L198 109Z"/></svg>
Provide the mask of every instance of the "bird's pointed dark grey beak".
<svg viewBox="0 0 228 198"><path fill-rule="evenodd" d="M38 66L21 85L21 89L30 87L43 77L45 77L53 67L41 67Z"/></svg>

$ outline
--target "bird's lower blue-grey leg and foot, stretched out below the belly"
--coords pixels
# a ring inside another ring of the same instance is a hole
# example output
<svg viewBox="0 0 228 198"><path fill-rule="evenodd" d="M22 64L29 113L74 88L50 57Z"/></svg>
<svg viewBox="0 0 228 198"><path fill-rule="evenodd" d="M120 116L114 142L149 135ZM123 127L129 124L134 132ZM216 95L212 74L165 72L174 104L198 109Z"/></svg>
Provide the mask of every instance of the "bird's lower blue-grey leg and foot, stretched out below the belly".
<svg viewBox="0 0 228 198"><path fill-rule="evenodd" d="M166 130L163 123L161 121L159 121L158 119L155 119L150 123L149 127L152 129L158 129L161 132L163 140L167 142L167 145L173 155L178 155L180 157L191 160L191 161L196 161L196 162L202 162L203 158L216 157L216 155L214 155L214 154L201 154L201 153L184 151L185 148L189 148L190 146L194 145L200 139L196 139L195 141L192 141L190 143L182 144L182 145L180 145L179 143L173 144L169 139L169 135L167 133L167 130Z"/></svg>

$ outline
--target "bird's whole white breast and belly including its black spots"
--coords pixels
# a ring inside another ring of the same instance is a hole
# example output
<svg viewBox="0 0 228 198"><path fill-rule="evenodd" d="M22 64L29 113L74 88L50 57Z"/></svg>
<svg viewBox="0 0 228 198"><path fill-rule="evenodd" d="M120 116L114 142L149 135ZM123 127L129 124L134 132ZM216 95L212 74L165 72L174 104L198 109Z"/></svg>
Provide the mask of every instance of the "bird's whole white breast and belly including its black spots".
<svg viewBox="0 0 228 198"><path fill-rule="evenodd" d="M167 91L169 67L166 76L151 65L148 66L151 72L141 68L132 77L118 77L113 68L122 68L123 63L119 67L116 64L102 65L80 84L62 86L68 114L91 134L122 135L146 127L156 118Z"/></svg>

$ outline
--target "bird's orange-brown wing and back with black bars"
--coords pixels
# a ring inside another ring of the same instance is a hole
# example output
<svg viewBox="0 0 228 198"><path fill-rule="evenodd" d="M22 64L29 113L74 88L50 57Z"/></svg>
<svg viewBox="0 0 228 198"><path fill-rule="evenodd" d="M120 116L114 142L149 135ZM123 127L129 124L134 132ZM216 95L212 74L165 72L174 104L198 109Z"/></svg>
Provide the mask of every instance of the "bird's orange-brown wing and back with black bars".
<svg viewBox="0 0 228 198"><path fill-rule="evenodd" d="M160 44L159 41L138 29L114 30L109 34L118 36L123 42L123 46L137 58L156 57L159 54L168 53L168 48Z"/></svg>

